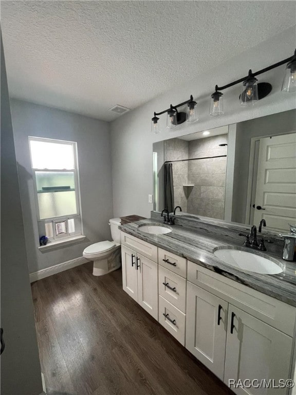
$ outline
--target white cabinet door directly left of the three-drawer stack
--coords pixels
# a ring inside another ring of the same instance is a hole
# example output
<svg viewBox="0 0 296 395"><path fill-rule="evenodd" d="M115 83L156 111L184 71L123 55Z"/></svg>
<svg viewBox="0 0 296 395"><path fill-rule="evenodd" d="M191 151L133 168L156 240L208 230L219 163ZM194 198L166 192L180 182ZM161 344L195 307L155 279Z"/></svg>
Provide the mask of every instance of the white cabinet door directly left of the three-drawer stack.
<svg viewBox="0 0 296 395"><path fill-rule="evenodd" d="M138 276L138 303L158 319L158 274L157 263L138 254L136 257Z"/></svg>

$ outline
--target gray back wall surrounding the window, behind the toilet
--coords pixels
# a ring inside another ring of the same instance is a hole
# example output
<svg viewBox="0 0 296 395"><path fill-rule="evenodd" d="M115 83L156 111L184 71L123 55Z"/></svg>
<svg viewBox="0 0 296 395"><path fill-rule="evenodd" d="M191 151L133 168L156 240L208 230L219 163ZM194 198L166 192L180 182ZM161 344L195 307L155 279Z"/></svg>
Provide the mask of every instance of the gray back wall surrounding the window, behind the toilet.
<svg viewBox="0 0 296 395"><path fill-rule="evenodd" d="M107 122L21 100L11 100L16 160L29 272L82 256L94 242L110 240L113 218L109 125ZM83 230L86 240L41 252L28 136L77 141Z"/></svg>

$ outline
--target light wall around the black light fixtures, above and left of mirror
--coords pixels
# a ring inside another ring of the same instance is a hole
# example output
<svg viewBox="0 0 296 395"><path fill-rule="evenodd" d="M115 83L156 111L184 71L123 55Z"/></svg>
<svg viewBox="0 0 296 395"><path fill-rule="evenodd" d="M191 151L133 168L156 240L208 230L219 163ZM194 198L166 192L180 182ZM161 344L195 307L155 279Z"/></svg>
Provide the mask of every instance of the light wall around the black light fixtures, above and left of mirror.
<svg viewBox="0 0 296 395"><path fill-rule="evenodd" d="M288 58L293 55L294 46L295 28L293 27L213 69L211 68L214 65L209 65L208 73L200 75L187 84L176 86L171 91L113 121L111 132L114 215L117 217L138 214L150 217L153 205L148 203L148 194L153 191L153 142L294 109L294 95L280 92L285 69L285 66L281 66L258 76L261 82L270 82L273 91L256 106L245 109L238 105L238 96L241 93L241 84L239 84L224 91L224 116L215 118L208 114L209 98L215 84L221 86L242 78L248 74L250 67L256 71ZM188 61L190 62L190 59ZM169 65L168 73L170 73ZM164 114L159 116L161 133L152 135L150 128L154 111L160 112L167 109L171 103L178 104L188 100L190 94L198 101L199 121L191 125L183 123L171 132L165 129Z"/></svg>

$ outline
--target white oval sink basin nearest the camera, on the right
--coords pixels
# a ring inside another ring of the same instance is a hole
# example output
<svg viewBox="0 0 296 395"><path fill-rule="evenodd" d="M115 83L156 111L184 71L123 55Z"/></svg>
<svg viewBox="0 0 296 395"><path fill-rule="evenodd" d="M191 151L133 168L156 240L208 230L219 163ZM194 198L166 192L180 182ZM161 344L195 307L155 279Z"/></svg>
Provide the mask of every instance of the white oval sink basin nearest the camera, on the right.
<svg viewBox="0 0 296 395"><path fill-rule="evenodd" d="M283 272L281 266L275 262L246 251L220 248L214 250L214 255L228 265L246 272L260 274L278 274Z"/></svg>

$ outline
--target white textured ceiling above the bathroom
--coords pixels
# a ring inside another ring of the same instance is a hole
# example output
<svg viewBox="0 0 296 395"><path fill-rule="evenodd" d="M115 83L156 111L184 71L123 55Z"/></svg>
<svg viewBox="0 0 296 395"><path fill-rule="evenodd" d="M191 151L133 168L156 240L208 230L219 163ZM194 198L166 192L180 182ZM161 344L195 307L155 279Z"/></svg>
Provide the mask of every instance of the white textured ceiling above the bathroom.
<svg viewBox="0 0 296 395"><path fill-rule="evenodd" d="M2 1L10 96L110 121L118 115L109 107L134 109L294 25L295 7Z"/></svg>

